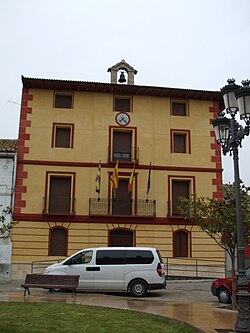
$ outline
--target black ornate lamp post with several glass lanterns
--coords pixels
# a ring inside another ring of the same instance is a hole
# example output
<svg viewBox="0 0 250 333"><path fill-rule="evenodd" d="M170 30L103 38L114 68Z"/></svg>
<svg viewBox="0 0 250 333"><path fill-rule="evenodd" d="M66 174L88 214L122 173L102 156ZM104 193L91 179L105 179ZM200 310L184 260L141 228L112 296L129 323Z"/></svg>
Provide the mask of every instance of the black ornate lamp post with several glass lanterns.
<svg viewBox="0 0 250 333"><path fill-rule="evenodd" d="M223 154L233 153L234 183L236 195L236 223L237 223L237 262L238 262L238 316L235 324L236 332L250 332L250 308L249 293L247 290L247 278L245 269L245 241L243 236L243 222L241 211L241 190L239 177L239 153L241 141L249 135L250 129L250 81L242 81L242 86L236 85L234 79L229 79L228 85L221 89L226 113L221 112L219 117L213 120L213 127L217 142L221 145ZM235 116L239 111L240 119L246 126L240 125Z"/></svg>

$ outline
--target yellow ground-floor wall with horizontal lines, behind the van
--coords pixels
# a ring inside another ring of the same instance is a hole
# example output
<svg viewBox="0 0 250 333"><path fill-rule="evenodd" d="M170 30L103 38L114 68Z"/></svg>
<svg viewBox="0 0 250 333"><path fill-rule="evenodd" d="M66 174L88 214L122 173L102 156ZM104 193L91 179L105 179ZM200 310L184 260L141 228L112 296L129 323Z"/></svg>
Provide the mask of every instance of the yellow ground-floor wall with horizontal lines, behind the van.
<svg viewBox="0 0 250 333"><path fill-rule="evenodd" d="M55 224L50 223L50 226ZM64 227L68 223L62 223ZM109 230L128 228L130 224L89 224L72 223L69 228L68 255L87 247L107 246ZM178 226L132 225L136 233L136 246L157 247L164 258L173 256L172 232ZM182 226L181 228L184 228ZM32 262L48 260L48 224L44 222L22 222L15 227L13 234L14 262ZM224 259L223 251L218 251L213 240L196 226L186 226L192 233L192 257L200 259ZM53 257L54 258L54 257ZM56 257L54 259L61 258Z"/></svg>

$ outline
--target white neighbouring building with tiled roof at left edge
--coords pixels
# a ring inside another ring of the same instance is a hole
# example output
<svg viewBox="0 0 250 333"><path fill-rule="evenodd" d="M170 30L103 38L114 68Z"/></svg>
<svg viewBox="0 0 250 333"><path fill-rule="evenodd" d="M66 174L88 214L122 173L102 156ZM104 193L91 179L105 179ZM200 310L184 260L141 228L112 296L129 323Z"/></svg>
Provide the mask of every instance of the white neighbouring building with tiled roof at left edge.
<svg viewBox="0 0 250 333"><path fill-rule="evenodd" d="M0 139L0 213L7 207L13 209L16 171L17 140ZM12 216L6 216L5 224L11 223ZM1 223L1 227L2 227ZM0 233L0 280L11 277L11 233Z"/></svg>

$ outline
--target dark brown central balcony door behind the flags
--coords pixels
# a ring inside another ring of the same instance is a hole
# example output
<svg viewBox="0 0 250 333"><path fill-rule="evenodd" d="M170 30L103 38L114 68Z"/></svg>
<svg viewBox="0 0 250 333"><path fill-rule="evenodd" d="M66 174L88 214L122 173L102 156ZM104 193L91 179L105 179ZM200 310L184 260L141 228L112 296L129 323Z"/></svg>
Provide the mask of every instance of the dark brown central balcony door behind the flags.
<svg viewBox="0 0 250 333"><path fill-rule="evenodd" d="M131 192L128 192L128 179L119 178L119 187L116 194L113 194L112 214L113 215L131 215L132 202Z"/></svg>

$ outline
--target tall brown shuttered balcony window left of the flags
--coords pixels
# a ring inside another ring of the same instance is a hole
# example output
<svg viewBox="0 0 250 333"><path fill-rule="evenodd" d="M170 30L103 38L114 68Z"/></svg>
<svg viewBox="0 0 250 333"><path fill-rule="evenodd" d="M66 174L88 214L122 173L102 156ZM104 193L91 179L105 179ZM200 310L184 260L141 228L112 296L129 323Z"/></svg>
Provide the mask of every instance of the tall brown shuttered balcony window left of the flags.
<svg viewBox="0 0 250 333"><path fill-rule="evenodd" d="M72 214L72 177L71 176L50 176L48 213Z"/></svg>

